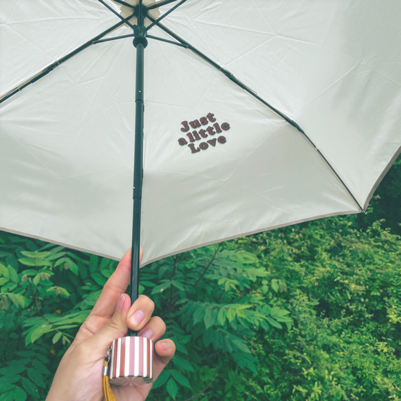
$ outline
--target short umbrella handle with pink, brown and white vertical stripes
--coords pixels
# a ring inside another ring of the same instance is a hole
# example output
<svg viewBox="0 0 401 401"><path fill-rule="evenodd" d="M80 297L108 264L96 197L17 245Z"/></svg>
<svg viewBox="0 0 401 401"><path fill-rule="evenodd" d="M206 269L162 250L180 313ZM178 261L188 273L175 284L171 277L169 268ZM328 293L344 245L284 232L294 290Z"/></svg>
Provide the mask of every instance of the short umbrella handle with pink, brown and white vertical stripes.
<svg viewBox="0 0 401 401"><path fill-rule="evenodd" d="M145 337L116 338L111 344L110 384L135 385L153 381L153 342Z"/></svg>

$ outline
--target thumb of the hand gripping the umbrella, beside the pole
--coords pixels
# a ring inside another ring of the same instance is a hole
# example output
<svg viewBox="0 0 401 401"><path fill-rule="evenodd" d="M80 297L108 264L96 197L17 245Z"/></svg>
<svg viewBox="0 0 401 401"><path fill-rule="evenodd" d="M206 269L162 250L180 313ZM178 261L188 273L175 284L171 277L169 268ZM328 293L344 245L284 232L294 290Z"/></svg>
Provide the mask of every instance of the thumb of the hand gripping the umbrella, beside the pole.
<svg viewBox="0 0 401 401"><path fill-rule="evenodd" d="M91 350L94 356L104 358L105 350L116 338L127 335L127 312L131 307L131 301L127 294L120 294L116 310L111 319L94 335L91 336L85 345Z"/></svg>

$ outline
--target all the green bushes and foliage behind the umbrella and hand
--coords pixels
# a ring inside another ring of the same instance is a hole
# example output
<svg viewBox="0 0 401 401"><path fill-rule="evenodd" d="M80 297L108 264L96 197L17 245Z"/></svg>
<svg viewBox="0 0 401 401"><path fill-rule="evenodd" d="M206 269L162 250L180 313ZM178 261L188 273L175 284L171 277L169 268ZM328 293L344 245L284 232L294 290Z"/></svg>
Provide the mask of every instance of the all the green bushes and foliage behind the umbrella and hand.
<svg viewBox="0 0 401 401"><path fill-rule="evenodd" d="M401 400L401 160L367 215L178 254L140 291L177 354L149 400ZM43 400L116 261L0 232L0 401Z"/></svg>

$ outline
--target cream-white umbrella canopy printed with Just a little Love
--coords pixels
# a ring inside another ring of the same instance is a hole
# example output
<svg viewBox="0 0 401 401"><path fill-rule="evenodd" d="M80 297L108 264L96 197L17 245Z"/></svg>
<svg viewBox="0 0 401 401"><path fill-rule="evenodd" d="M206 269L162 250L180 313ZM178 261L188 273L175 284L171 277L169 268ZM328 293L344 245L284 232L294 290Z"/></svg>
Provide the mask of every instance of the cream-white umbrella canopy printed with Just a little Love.
<svg viewBox="0 0 401 401"><path fill-rule="evenodd" d="M153 26L208 59L144 51L142 263L365 210L400 153L400 21L398 0L187 0ZM2 230L113 258L131 245L132 38L64 60L120 22L96 0L1 1Z"/></svg>

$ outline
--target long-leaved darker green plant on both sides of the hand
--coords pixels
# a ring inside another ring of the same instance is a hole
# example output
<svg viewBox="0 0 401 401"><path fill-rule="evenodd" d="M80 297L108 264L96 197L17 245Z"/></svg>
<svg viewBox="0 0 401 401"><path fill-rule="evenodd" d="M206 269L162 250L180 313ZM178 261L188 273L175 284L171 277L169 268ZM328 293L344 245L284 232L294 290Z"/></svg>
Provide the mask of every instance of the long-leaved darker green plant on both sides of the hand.
<svg viewBox="0 0 401 401"><path fill-rule="evenodd" d="M44 398L60 357L116 262L6 233L0 241L0 382L7 383L0 401L26 394ZM256 372L248 346L252 336L292 325L288 310L272 296L285 285L267 275L251 253L221 246L142 269L142 288L177 344L177 356L155 382L152 397L223 393L226 365Z"/></svg>

